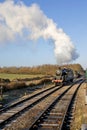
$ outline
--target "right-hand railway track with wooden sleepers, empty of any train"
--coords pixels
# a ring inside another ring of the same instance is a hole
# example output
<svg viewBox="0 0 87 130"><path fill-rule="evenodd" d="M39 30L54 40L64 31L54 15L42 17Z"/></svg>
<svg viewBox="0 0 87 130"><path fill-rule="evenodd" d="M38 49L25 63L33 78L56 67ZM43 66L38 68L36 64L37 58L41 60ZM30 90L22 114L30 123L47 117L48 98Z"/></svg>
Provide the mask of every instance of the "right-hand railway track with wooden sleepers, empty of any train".
<svg viewBox="0 0 87 130"><path fill-rule="evenodd" d="M81 83L67 88L26 130L70 130L66 118Z"/></svg>

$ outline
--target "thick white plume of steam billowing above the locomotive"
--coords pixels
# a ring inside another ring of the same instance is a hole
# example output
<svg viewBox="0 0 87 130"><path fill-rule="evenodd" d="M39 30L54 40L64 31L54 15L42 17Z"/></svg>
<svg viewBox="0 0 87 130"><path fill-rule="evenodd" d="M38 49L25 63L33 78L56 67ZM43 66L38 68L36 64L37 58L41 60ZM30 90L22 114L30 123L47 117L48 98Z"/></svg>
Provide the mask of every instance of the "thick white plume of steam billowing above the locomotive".
<svg viewBox="0 0 87 130"><path fill-rule="evenodd" d="M15 4L13 0L0 3L0 43L12 41L16 36L28 40L51 39L58 64L78 58L70 37L37 4L28 7L21 1Z"/></svg>

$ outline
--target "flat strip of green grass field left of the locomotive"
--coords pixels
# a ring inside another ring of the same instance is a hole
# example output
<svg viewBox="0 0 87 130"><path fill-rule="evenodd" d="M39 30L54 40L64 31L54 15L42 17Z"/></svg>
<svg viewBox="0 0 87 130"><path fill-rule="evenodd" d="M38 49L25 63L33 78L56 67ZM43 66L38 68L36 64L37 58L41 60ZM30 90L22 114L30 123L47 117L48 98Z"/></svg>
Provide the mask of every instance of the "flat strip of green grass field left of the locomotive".
<svg viewBox="0 0 87 130"><path fill-rule="evenodd" d="M30 74L7 74L7 73L0 73L0 78L2 79L24 79L24 78L35 78L35 77L43 77L43 75L30 75Z"/></svg>

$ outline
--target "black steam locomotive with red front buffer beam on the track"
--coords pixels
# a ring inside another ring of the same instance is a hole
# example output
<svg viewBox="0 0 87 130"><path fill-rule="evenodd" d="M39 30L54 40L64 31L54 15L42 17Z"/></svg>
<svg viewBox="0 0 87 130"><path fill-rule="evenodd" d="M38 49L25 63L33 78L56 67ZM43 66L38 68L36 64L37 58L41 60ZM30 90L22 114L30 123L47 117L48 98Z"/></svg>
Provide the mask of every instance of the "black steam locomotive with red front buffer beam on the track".
<svg viewBox="0 0 87 130"><path fill-rule="evenodd" d="M74 79L74 73L72 69L63 68L58 69L56 71L56 75L54 79L52 80L53 83L55 83L55 86L57 85L65 85L67 83L73 82Z"/></svg>

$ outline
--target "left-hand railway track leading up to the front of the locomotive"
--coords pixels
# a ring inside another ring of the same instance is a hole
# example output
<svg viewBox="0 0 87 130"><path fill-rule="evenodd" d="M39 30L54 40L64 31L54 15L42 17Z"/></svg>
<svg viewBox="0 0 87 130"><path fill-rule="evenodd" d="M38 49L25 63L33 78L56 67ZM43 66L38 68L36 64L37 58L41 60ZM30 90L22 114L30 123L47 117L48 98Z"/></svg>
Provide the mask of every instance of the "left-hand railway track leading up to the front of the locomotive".
<svg viewBox="0 0 87 130"><path fill-rule="evenodd" d="M61 86L62 87L62 86ZM34 105L36 105L41 100L45 99L55 91L59 90L61 87L50 87L44 89L36 94L33 94L25 99L18 100L11 105L8 105L0 110L0 128L3 128L8 122L14 120L18 116L23 114L25 111L31 109Z"/></svg>

